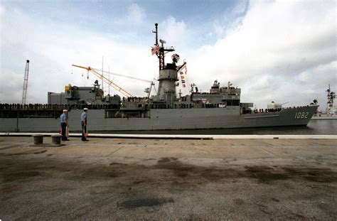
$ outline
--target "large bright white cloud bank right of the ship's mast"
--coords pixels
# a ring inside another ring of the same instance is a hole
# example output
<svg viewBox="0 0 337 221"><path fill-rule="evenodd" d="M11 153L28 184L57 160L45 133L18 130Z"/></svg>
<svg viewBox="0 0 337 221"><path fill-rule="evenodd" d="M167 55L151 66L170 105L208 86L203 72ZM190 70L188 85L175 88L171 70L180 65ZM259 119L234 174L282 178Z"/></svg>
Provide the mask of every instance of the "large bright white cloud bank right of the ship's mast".
<svg viewBox="0 0 337 221"><path fill-rule="evenodd" d="M271 97L306 104L307 92L323 90L322 82L336 85L335 9L333 1L253 2L240 26L189 54L189 76L204 91L215 79L232 81L242 100L258 107ZM333 64L332 75L316 72ZM316 82L304 83L313 73Z"/></svg>

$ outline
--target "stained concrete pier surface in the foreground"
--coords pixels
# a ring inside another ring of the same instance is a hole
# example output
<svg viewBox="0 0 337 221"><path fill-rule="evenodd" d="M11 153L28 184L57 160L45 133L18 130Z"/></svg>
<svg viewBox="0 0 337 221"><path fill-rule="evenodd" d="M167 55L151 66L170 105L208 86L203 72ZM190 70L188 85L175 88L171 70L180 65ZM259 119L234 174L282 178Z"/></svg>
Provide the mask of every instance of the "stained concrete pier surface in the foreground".
<svg viewBox="0 0 337 221"><path fill-rule="evenodd" d="M336 220L337 139L266 138L0 136L0 219Z"/></svg>

